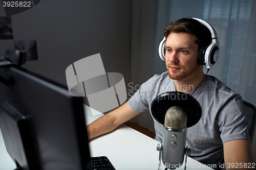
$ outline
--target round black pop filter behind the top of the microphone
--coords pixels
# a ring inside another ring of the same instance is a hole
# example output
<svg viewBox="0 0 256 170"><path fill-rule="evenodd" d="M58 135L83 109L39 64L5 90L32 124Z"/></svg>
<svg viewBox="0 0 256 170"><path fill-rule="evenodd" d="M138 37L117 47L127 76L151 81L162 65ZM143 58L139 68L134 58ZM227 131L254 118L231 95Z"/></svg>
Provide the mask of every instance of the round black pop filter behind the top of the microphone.
<svg viewBox="0 0 256 170"><path fill-rule="evenodd" d="M158 95L151 105L153 117L164 125L166 111L173 106L181 107L187 114L187 128L194 126L201 118L202 108L198 101L191 95L170 91Z"/></svg>

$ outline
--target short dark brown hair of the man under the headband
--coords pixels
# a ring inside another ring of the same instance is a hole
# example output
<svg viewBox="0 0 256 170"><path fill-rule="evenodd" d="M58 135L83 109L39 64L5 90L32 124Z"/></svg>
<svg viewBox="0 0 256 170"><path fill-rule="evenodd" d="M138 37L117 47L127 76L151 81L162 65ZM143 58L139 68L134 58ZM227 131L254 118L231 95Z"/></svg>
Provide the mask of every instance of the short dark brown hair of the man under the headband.
<svg viewBox="0 0 256 170"><path fill-rule="evenodd" d="M211 43L211 33L209 29L193 18L181 18L170 22L163 32L165 39L167 39L169 33L172 32L194 34L197 37L195 41L198 44L199 49L202 46Z"/></svg>

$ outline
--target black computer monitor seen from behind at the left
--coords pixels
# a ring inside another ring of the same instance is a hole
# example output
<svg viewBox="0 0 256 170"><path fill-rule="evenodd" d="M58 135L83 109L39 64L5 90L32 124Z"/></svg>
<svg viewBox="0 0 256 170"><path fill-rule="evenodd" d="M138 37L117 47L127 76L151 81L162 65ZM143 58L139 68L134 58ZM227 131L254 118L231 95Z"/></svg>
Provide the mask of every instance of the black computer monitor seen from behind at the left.
<svg viewBox="0 0 256 170"><path fill-rule="evenodd" d="M17 169L91 169L82 98L20 66L0 66L0 128Z"/></svg>

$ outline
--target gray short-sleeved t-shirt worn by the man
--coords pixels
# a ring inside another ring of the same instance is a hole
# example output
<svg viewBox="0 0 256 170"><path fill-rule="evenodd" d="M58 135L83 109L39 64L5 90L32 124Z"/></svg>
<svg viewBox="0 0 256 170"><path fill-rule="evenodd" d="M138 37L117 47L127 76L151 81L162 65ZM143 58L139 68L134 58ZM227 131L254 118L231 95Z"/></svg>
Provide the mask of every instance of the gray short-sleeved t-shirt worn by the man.
<svg viewBox="0 0 256 170"><path fill-rule="evenodd" d="M177 89L180 88L193 89L192 86L177 85ZM176 90L174 80L169 78L166 71L143 83L129 100L129 104L133 110L144 112L151 108L153 100L159 94L168 91ZM192 93L193 91L188 94ZM202 116L196 125L187 129L186 146L191 148L190 157L203 164L216 164L219 167L223 159L224 142L249 138L242 98L212 76L206 77L193 97L202 107ZM155 139L162 141L163 125L154 117L153 119Z"/></svg>

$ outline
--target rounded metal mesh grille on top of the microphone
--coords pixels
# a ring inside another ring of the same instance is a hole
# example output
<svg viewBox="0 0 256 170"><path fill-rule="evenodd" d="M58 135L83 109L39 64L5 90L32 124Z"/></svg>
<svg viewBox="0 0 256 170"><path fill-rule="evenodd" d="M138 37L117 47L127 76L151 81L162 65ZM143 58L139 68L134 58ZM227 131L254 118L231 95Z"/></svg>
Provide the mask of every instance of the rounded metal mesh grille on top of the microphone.
<svg viewBox="0 0 256 170"><path fill-rule="evenodd" d="M187 126L187 114L178 106L169 108L165 114L164 125L170 129L183 129Z"/></svg>

